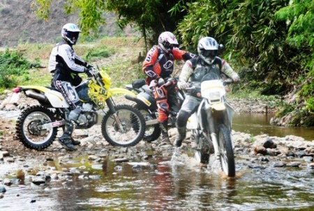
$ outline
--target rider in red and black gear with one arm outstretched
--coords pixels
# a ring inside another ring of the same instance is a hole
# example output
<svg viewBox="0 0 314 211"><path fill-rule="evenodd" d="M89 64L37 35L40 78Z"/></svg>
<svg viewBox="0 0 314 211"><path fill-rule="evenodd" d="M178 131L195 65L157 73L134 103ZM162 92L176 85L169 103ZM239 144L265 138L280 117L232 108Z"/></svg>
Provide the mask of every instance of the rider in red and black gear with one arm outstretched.
<svg viewBox="0 0 314 211"><path fill-rule="evenodd" d="M174 68L174 60L188 60L195 55L179 49L177 38L170 31L160 33L158 45L154 45L143 63L143 71L148 76L146 81L149 85L152 80L157 81L157 86L153 87L154 96L158 106L158 122L163 136L163 142L170 143L168 136L168 114L170 105L168 95L174 93L175 84L163 86L167 79L171 77Z"/></svg>

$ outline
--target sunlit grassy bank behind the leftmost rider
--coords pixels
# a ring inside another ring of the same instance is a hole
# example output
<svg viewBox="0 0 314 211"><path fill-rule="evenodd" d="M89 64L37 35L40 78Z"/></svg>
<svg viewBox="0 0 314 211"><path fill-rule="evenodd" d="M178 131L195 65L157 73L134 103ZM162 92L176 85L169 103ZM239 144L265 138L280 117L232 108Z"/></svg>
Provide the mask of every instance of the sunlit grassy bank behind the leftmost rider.
<svg viewBox="0 0 314 211"><path fill-rule="evenodd" d="M3 59L15 58L10 62L3 61L3 64L10 63L10 68L0 64L0 93L18 84L50 86L51 74L47 64L53 47L45 43L25 43L15 49L0 50ZM144 78L142 63L137 62L139 52L144 49L139 38L103 38L99 42L79 43L74 49L85 61L105 70L114 87L124 87L133 79ZM24 65L19 65L21 61Z"/></svg>

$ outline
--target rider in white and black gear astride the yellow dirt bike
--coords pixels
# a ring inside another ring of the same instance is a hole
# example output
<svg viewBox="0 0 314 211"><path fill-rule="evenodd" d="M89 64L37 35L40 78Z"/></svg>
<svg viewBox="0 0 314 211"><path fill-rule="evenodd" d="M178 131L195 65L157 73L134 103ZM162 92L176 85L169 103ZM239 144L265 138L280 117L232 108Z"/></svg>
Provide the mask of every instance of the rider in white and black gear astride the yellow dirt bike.
<svg viewBox="0 0 314 211"><path fill-rule="evenodd" d="M66 126L59 142L68 150L75 150L80 141L75 141L71 135L73 132L72 121L77 120L82 112L82 102L73 86L82 82L79 73L87 73L89 68L85 61L75 54L73 45L76 44L80 29L75 24L65 24L61 30L63 40L54 46L49 58L48 70L52 73L51 86L57 88L70 105L70 113L66 120Z"/></svg>

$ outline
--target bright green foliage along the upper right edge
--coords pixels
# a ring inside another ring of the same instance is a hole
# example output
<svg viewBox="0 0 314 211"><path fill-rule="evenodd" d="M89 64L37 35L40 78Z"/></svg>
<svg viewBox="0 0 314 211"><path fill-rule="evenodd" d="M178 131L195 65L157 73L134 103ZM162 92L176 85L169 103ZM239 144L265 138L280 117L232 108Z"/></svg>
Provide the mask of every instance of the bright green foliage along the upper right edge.
<svg viewBox="0 0 314 211"><path fill-rule="evenodd" d="M289 6L278 10L276 17L285 20L289 26L286 40L299 52L299 61L306 73L299 76L304 84L299 91L300 101L305 100L306 109L314 112L314 1L294 0Z"/></svg>

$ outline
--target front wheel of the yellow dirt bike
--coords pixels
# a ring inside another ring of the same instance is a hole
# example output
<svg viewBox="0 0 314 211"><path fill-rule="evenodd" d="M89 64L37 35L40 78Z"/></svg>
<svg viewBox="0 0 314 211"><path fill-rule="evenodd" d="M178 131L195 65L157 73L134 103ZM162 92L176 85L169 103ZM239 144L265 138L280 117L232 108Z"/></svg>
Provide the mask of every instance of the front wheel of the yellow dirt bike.
<svg viewBox="0 0 314 211"><path fill-rule="evenodd" d="M143 139L145 120L140 110L128 104L114 107L115 113L107 111L101 123L101 132L112 146L135 146Z"/></svg>

